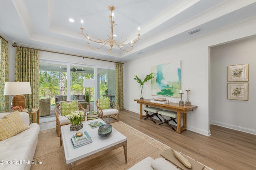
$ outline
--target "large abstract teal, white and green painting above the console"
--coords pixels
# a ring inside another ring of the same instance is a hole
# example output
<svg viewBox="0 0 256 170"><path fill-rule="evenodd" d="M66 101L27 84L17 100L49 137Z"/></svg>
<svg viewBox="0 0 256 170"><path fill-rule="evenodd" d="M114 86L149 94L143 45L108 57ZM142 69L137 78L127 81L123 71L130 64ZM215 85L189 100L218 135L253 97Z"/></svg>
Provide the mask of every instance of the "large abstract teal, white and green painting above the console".
<svg viewBox="0 0 256 170"><path fill-rule="evenodd" d="M155 77L151 80L151 94L180 98L181 61L159 64L151 67Z"/></svg>

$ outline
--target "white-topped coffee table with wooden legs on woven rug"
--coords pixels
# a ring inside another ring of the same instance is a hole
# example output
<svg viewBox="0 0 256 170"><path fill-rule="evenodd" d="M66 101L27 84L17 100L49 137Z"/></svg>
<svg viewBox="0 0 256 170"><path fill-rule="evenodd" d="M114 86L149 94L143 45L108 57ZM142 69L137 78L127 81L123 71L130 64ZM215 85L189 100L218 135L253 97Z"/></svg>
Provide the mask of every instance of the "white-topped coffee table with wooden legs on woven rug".
<svg viewBox="0 0 256 170"><path fill-rule="evenodd" d="M92 138L92 143L73 148L70 138L77 131L70 131L70 125L64 125L60 127L62 145L64 149L65 160L68 169L72 169L74 166L82 164L88 160L96 158L102 154L106 154L111 150L117 149L119 147L124 147L124 157L127 163L127 141L126 137L118 132L116 129L112 128L112 133L108 137L98 136L98 127L92 129L88 123L92 121L100 121L106 124L102 119L94 119L90 121L83 122L83 128L78 132L87 131Z"/></svg>

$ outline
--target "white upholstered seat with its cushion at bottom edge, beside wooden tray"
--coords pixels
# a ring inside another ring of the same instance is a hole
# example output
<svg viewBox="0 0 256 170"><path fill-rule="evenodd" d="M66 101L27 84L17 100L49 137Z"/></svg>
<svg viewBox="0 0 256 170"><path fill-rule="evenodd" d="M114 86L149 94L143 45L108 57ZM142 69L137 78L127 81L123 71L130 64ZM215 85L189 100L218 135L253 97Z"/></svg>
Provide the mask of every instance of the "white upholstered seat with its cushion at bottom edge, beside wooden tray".
<svg viewBox="0 0 256 170"><path fill-rule="evenodd" d="M178 170L178 168L164 158L153 159L149 156L128 170Z"/></svg>

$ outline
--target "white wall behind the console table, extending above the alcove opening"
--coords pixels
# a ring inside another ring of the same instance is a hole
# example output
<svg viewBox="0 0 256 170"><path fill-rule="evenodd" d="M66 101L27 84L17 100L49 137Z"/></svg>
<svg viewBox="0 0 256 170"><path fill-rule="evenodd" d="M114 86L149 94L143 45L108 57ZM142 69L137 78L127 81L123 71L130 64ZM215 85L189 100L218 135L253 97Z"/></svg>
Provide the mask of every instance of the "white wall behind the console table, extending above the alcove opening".
<svg viewBox="0 0 256 170"><path fill-rule="evenodd" d="M145 77L150 74L151 66L181 60L181 86L185 90L190 87L189 100L197 109L187 114L187 129L210 135L210 56L209 47L234 41L256 34L256 18L225 27L207 35L155 51L125 63L124 88L125 109L139 113L139 104L134 99L140 98L140 86L134 75ZM146 82L143 97L152 99L151 84ZM183 96L186 101L186 95ZM179 98L168 98L170 102L178 102ZM139 116L139 115L138 115Z"/></svg>

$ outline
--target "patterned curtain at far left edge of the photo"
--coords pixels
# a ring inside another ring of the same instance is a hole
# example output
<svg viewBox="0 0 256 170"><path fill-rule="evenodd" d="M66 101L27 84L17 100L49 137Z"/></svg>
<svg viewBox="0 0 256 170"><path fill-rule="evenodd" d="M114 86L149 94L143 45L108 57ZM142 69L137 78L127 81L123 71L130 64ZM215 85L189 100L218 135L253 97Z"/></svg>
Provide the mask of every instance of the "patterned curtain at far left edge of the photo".
<svg viewBox="0 0 256 170"><path fill-rule="evenodd" d="M7 41L1 38L0 45L0 112L9 112L9 96L4 96L4 84L9 81L9 56Z"/></svg>

